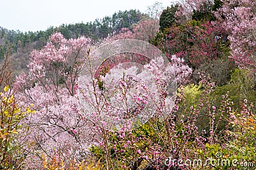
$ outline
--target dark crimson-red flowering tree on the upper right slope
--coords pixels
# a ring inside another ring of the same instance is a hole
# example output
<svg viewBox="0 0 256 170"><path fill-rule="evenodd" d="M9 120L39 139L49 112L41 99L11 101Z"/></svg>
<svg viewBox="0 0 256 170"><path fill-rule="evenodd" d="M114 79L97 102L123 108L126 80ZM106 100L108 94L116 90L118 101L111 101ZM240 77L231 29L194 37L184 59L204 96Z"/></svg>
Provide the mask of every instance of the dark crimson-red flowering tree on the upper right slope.
<svg viewBox="0 0 256 170"><path fill-rule="evenodd" d="M225 38L225 30L218 24L191 21L184 25L173 25L164 33L165 37L158 40L159 48L183 58L190 66L198 68L206 61L221 57L222 39L215 37L219 35Z"/></svg>

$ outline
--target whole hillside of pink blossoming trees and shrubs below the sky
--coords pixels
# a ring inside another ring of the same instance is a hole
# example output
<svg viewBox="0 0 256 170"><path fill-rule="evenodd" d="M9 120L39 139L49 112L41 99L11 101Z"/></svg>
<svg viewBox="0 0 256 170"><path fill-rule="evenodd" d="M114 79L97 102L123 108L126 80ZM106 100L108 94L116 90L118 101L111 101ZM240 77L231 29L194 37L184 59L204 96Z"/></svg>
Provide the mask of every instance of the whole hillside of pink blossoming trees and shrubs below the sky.
<svg viewBox="0 0 256 170"><path fill-rule="evenodd" d="M1 29L0 169L255 169L256 3L145 16Z"/></svg>

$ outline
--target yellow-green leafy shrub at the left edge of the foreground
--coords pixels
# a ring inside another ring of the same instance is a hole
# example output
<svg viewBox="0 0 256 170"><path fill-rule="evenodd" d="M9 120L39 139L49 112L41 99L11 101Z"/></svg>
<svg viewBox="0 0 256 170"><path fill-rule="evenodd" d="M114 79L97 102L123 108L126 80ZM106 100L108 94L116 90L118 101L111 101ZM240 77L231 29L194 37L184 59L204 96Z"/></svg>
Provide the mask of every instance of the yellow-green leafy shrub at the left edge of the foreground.
<svg viewBox="0 0 256 170"><path fill-rule="evenodd" d="M33 104L20 106L15 94L8 90L9 86L6 86L0 93L0 167L3 169L13 169L12 160L16 161L15 164L22 164L24 159L20 159L20 155L23 154L21 148L24 143L17 141L26 129L22 129L20 121L34 112L31 109Z"/></svg>

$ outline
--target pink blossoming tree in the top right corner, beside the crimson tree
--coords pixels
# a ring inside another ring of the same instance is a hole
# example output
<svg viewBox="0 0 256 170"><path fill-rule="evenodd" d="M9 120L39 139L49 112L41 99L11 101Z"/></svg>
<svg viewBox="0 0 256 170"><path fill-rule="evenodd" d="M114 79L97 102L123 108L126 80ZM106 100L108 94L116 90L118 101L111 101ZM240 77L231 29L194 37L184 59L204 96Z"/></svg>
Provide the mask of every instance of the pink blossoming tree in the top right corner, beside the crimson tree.
<svg viewBox="0 0 256 170"><path fill-rule="evenodd" d="M241 66L255 68L255 1L222 1L223 6L216 13L223 27L228 31L232 59Z"/></svg>

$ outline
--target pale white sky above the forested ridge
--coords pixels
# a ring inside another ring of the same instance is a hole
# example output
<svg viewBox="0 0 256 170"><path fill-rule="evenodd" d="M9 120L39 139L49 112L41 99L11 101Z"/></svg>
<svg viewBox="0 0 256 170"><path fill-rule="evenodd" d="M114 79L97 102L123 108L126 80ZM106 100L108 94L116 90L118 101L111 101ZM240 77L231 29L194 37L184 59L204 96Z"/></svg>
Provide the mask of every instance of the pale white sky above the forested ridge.
<svg viewBox="0 0 256 170"><path fill-rule="evenodd" d="M90 22L115 11L147 11L156 1L166 8L172 0L0 0L0 26L19 31L45 31L50 26Z"/></svg>

